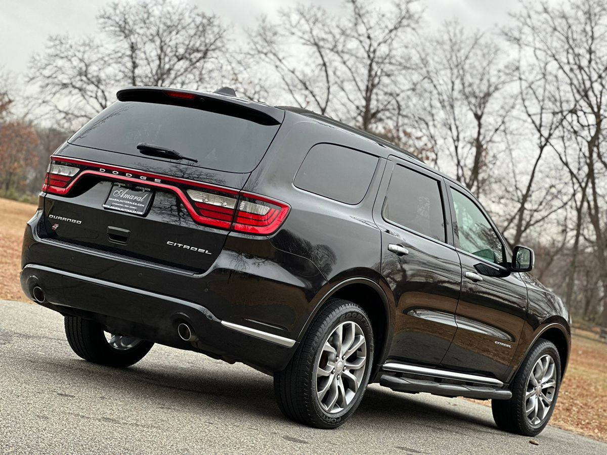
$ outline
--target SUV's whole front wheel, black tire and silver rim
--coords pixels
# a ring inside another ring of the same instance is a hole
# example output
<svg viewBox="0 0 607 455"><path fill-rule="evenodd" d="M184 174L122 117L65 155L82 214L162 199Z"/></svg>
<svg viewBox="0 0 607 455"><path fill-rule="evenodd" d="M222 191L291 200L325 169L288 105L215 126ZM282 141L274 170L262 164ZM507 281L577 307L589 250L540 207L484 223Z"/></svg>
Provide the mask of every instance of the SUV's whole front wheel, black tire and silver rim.
<svg viewBox="0 0 607 455"><path fill-rule="evenodd" d="M546 365L545 370L544 365ZM535 383L539 383L539 386L534 385L532 373L534 378L540 377L539 381L535 379ZM550 387L553 382L554 386ZM560 383L561 362L557 348L554 343L540 339L531 348L518 369L514 381L510 384L512 398L492 400L493 420L498 428L523 436L540 434L548 425L554 411ZM547 403L549 407L546 406ZM530 409L529 413L527 409Z"/></svg>

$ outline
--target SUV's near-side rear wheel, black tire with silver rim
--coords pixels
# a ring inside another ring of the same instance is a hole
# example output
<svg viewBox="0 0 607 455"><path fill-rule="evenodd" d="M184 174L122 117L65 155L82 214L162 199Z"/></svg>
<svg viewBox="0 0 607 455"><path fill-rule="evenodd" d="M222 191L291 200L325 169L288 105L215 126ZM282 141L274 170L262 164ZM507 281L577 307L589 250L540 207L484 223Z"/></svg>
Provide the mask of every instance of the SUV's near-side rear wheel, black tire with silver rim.
<svg viewBox="0 0 607 455"><path fill-rule="evenodd" d="M367 314L348 300L331 299L314 318L287 368L274 374L280 411L304 425L337 428L358 408L372 368L373 329Z"/></svg>

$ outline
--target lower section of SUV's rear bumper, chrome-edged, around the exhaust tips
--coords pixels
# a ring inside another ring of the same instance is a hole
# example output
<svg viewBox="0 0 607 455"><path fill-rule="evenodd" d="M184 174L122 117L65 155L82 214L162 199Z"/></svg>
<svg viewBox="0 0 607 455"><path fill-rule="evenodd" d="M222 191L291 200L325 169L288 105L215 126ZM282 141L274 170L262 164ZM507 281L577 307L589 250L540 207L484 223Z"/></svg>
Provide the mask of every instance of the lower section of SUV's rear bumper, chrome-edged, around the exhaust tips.
<svg viewBox="0 0 607 455"><path fill-rule="evenodd" d="M285 368L297 347L287 337L222 321L197 303L29 264L21 272L21 288L35 301L32 290L36 286L44 292L44 300L38 303L62 314L90 318L140 339L244 362L268 372ZM198 336L196 343L180 339L180 323L188 323Z"/></svg>

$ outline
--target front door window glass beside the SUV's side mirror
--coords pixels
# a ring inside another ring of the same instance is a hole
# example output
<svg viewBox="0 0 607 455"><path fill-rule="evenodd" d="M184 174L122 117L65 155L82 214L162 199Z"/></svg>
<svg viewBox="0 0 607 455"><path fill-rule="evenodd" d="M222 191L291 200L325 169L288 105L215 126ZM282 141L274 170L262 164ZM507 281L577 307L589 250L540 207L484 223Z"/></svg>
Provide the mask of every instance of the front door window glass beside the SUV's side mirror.
<svg viewBox="0 0 607 455"><path fill-rule="evenodd" d="M451 195L455 207L455 234L459 238L459 248L488 261L501 263L502 244L489 220L466 195L454 189L451 189Z"/></svg>

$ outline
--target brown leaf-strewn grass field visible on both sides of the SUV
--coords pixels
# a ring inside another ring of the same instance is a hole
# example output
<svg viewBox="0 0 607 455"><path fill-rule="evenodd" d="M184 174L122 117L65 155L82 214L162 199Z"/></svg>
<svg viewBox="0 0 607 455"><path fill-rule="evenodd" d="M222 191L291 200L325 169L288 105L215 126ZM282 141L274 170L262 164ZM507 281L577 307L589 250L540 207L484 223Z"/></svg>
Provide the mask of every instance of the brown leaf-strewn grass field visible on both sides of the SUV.
<svg viewBox="0 0 607 455"><path fill-rule="evenodd" d="M21 240L35 211L35 205L0 198L0 299L27 302L19 285ZM594 332L574 331L571 360L551 423L607 442L607 343Z"/></svg>

